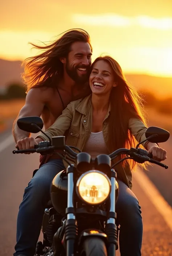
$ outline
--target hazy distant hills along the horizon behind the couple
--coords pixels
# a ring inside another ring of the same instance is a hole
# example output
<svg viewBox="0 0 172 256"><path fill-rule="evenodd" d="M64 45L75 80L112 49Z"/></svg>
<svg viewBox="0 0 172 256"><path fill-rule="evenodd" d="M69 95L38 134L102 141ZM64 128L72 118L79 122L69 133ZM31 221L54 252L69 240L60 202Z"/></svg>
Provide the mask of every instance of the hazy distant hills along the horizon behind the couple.
<svg viewBox="0 0 172 256"><path fill-rule="evenodd" d="M0 87L8 86L11 82L20 82L21 61L0 59ZM172 96L172 77L154 77L144 74L126 74L126 78L135 88L148 90L157 97Z"/></svg>

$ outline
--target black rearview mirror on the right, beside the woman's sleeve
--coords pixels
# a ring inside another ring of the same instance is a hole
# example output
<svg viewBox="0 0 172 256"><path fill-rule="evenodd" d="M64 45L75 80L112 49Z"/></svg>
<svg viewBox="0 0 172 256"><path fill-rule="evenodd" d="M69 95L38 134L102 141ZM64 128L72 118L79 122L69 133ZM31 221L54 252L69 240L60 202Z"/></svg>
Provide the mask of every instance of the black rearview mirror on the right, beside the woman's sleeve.
<svg viewBox="0 0 172 256"><path fill-rule="evenodd" d="M154 134L157 134L157 136L148 139L148 141L150 141L152 143L165 142L165 141L168 141L169 135L170 135L169 131L166 131L166 130L156 127L156 126L150 126L147 129L145 136L146 136L146 138L148 138Z"/></svg>

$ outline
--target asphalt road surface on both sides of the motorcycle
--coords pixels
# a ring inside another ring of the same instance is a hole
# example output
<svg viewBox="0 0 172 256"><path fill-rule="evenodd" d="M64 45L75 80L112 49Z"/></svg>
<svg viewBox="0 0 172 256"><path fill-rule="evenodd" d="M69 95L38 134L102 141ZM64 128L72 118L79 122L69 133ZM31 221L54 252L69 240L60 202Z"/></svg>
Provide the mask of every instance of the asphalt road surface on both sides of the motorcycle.
<svg viewBox="0 0 172 256"><path fill-rule="evenodd" d="M19 204L22 200L24 188L32 177L33 170L38 167L39 163L39 156L37 154L13 155L12 150L14 150L15 143L12 143L10 142L10 139L7 139L10 134L11 131L7 131L0 135L0 253L3 256L12 256L13 254L13 248L16 242L16 219ZM4 148L5 144L2 145L4 140L6 140L6 148ZM166 146L170 147L170 143ZM153 171L154 170L155 167ZM171 202L170 194L172 195L172 177L168 170L156 168L156 174L158 172L157 176L162 179L162 194L165 194L166 198L169 198L169 202ZM156 175L153 171L151 174L149 173L148 176L155 179ZM163 173L165 175L162 175ZM162 178L163 176L165 178ZM136 177L137 176L134 175L133 191L137 195L139 203L142 206L144 223L142 256L172 256L172 229L170 228L170 225L167 224L167 220L165 221L160 210L157 210L156 204L158 204L158 201L157 203L152 203L144 187L140 186L138 178ZM157 181L157 183L159 183L159 181ZM117 256L119 255L118 251Z"/></svg>

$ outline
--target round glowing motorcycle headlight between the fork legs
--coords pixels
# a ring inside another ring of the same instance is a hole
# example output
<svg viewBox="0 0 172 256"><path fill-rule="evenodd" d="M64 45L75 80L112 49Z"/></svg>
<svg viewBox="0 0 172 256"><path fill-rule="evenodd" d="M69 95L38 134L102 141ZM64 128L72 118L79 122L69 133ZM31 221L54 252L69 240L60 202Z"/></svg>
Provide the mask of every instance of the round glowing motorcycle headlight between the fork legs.
<svg viewBox="0 0 172 256"><path fill-rule="evenodd" d="M101 204L110 195L111 181L103 172L90 170L79 177L76 191L84 202Z"/></svg>

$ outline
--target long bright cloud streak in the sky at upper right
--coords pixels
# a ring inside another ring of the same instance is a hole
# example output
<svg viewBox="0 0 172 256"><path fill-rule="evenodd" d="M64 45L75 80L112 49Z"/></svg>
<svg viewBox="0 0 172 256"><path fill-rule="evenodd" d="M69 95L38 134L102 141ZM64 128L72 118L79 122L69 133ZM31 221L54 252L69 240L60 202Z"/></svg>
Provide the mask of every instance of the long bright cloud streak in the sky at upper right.
<svg viewBox="0 0 172 256"><path fill-rule="evenodd" d="M153 28L169 30L172 29L172 18L153 18L149 16L126 17L116 14L83 15L74 14L72 20L75 23L91 26L110 27L130 27L139 26L143 28Z"/></svg>

